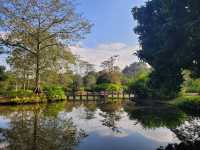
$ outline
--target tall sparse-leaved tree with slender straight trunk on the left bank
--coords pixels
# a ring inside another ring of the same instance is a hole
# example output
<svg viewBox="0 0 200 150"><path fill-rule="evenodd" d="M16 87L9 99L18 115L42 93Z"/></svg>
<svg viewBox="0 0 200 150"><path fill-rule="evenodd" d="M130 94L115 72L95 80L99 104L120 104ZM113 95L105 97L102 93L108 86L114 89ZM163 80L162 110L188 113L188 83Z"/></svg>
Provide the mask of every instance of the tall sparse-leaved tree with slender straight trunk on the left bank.
<svg viewBox="0 0 200 150"><path fill-rule="evenodd" d="M83 38L91 27L76 13L71 0L1 0L0 22L4 32L0 45L32 55L36 93L40 92L41 71L52 64L46 62L55 56L66 60L63 53L70 42Z"/></svg>

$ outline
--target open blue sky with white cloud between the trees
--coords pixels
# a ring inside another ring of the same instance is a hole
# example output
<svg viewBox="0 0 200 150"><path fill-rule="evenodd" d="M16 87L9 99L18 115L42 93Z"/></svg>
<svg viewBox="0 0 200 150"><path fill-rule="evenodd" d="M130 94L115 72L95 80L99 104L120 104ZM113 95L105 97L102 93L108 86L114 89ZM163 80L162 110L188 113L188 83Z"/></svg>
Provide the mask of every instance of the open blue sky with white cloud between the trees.
<svg viewBox="0 0 200 150"><path fill-rule="evenodd" d="M122 69L138 61L133 53L138 49L137 35L133 28L131 9L144 4L145 0L77 0L77 11L83 13L92 24L91 33L77 45L71 46L72 53L95 64L100 69L102 61L119 55L116 62ZM5 55L0 63L5 65Z"/></svg>

